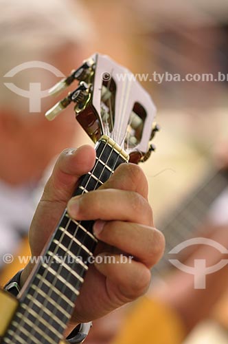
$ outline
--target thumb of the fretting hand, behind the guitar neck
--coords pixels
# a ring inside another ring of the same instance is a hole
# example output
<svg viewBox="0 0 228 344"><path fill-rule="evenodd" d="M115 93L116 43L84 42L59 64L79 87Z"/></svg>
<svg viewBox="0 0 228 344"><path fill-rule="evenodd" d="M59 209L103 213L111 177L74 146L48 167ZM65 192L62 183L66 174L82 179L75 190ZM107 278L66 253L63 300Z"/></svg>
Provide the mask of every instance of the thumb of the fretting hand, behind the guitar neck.
<svg viewBox="0 0 228 344"><path fill-rule="evenodd" d="M91 146L65 149L60 154L38 204L29 239L33 255L39 255L49 235L58 223L81 175L95 164L95 150Z"/></svg>

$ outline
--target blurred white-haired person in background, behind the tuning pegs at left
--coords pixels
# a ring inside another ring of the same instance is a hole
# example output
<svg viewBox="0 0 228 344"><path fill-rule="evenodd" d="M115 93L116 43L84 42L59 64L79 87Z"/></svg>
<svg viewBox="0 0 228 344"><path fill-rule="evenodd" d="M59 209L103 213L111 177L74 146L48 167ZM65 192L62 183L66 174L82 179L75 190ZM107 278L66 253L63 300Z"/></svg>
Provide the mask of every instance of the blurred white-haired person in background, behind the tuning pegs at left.
<svg viewBox="0 0 228 344"><path fill-rule="evenodd" d="M0 267L5 254L19 251L36 208L37 186L45 169L62 149L80 142L80 129L73 109L50 123L45 111L52 98L38 99L40 111L30 109L30 99L4 85L27 90L32 83L47 90L57 78L43 65L62 74L79 67L83 56L82 36L89 30L85 13L77 1L0 0ZM84 40L84 36L83 36ZM4 77L14 67L23 68ZM28 65L26 65L28 63ZM24 69L24 70L23 70ZM26 247L26 245L25 245ZM8 279L8 272L2 281Z"/></svg>

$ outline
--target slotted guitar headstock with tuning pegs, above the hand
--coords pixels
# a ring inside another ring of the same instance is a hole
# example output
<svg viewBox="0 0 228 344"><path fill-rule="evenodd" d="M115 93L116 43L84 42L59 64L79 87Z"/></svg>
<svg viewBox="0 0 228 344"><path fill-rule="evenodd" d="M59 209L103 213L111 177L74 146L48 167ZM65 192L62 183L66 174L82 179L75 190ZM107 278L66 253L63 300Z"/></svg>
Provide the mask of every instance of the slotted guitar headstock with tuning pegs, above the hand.
<svg viewBox="0 0 228 344"><path fill-rule="evenodd" d="M155 105L135 76L108 56L94 54L50 94L73 80L79 80L78 88L47 111L46 118L53 120L73 102L76 119L93 142L107 135L130 155L130 162L147 160L154 150L149 142L159 127L153 124Z"/></svg>

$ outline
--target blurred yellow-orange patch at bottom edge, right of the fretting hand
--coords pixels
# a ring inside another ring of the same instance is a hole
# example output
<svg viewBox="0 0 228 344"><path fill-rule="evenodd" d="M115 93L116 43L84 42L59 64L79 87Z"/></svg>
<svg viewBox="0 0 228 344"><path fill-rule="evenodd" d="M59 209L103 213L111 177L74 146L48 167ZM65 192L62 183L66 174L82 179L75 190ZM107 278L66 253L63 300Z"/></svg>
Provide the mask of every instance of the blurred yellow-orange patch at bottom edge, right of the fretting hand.
<svg viewBox="0 0 228 344"><path fill-rule="evenodd" d="M181 344L185 327L178 314L144 297L127 317L112 344Z"/></svg>

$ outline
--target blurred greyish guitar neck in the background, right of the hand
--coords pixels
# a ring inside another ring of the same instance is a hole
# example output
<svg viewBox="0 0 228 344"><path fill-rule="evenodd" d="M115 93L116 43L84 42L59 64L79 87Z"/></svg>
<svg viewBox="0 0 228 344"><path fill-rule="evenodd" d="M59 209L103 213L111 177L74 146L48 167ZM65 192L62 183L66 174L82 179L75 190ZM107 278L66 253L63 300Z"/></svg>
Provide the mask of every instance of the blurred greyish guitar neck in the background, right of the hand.
<svg viewBox="0 0 228 344"><path fill-rule="evenodd" d="M155 266L156 272L170 268L168 252L182 241L189 239L200 226L207 215L209 206L216 200L228 186L228 171L215 171L207 176L201 184L194 189L181 206L157 225L166 237L166 252L159 264Z"/></svg>

